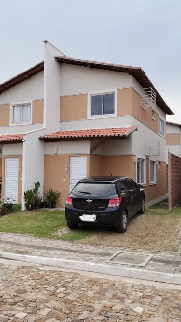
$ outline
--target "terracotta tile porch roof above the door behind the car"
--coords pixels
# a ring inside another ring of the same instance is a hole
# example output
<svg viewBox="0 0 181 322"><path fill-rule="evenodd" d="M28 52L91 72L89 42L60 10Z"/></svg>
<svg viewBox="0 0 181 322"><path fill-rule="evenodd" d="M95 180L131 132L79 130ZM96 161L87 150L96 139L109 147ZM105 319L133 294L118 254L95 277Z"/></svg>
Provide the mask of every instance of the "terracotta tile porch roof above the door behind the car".
<svg viewBox="0 0 181 322"><path fill-rule="evenodd" d="M93 138L93 137L123 137L128 136L133 131L137 130L137 126L109 128L109 129L91 129L77 131L59 131L51 134L46 134L39 137L43 140L52 139L74 139L74 138Z"/></svg>

